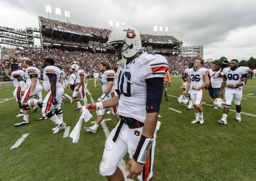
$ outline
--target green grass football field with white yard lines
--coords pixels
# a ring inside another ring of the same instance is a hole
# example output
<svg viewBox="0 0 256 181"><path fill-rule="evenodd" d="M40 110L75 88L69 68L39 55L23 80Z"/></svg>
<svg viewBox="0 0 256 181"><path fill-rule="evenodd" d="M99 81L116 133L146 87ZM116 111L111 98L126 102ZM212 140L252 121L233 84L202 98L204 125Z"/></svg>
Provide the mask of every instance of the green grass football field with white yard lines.
<svg viewBox="0 0 256 181"><path fill-rule="evenodd" d="M181 77L171 77L171 87L167 86L169 101L161 103L157 133L153 173L156 180L256 180L256 81L248 80L244 86L242 99L242 123L235 121L235 111L229 111L227 125L217 123L223 109L213 109L212 99L204 94L204 124L191 124L194 111L179 104L182 94ZM13 97L14 87L1 86L0 99ZM88 90L96 101L102 94L101 86L94 88L93 80L88 80ZM72 95L72 91L65 93ZM42 91L43 98L46 91ZM88 97L88 95L86 95ZM163 98L164 99L164 98ZM55 124L50 120L36 121L41 112L31 111L28 125L14 127L23 117L13 118L19 113L15 99L0 100L0 180L106 180L99 173L106 140L102 126L92 134L83 127L92 126L97 115L83 122L78 143L63 137L65 130L53 134ZM80 115L74 111L76 103L63 101L63 119L70 132ZM82 101L81 101L82 103ZM91 100L88 99L88 103ZM207 105L209 104L209 105ZM170 110L181 111L182 113ZM234 102L230 109L235 110ZM33 109L32 109L33 110ZM105 115L107 130L117 124L113 115ZM106 131L106 130L105 130ZM24 134L29 134L19 147L10 149ZM124 157L127 164L129 156Z"/></svg>

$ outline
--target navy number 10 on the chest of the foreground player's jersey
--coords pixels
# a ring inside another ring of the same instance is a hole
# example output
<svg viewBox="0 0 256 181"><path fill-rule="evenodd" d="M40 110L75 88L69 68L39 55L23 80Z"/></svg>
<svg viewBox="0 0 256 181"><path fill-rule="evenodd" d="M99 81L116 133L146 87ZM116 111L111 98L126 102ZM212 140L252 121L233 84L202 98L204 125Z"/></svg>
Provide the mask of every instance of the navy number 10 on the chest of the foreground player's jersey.
<svg viewBox="0 0 256 181"><path fill-rule="evenodd" d="M131 81L131 74L130 74L130 72L125 72L124 74L125 74L125 77L127 77L127 79L129 81ZM126 97L131 97L131 83L128 82L124 78L124 74L122 73L122 71L120 71L120 73L118 75L118 87L117 87L117 89L120 92L120 94L123 94ZM119 87L120 80L121 80L121 84L120 84L120 87ZM124 84L126 84L126 92L124 92Z"/></svg>

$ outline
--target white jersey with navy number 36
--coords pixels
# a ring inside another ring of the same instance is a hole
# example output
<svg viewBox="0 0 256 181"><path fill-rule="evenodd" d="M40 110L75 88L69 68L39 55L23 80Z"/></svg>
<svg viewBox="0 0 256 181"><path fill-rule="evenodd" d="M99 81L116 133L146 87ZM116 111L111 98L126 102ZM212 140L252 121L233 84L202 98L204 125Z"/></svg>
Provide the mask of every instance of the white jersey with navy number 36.
<svg viewBox="0 0 256 181"><path fill-rule="evenodd" d="M203 67L201 67L197 71L195 70L195 68L189 69L188 75L190 76L190 79L191 79L189 88L192 88L192 86L200 87L201 85L203 85L204 84L203 75L208 75L208 74L209 74L209 70Z"/></svg>

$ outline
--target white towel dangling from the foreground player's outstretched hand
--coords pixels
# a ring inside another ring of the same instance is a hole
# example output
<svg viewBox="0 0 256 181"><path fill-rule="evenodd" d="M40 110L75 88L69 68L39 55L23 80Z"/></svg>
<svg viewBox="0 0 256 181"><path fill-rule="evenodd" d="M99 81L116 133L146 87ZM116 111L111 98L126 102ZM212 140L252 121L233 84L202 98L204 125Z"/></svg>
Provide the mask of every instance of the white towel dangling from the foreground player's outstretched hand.
<svg viewBox="0 0 256 181"><path fill-rule="evenodd" d="M72 132L69 135L69 137L73 139L73 141L72 141L73 143L77 143L79 140L83 119L85 122L87 122L87 121L89 121L89 119L92 118L91 113L89 112L89 110L87 108L85 108L85 106L82 107L82 110L83 110L83 112L79 118L79 121L76 123L74 129L72 130Z"/></svg>

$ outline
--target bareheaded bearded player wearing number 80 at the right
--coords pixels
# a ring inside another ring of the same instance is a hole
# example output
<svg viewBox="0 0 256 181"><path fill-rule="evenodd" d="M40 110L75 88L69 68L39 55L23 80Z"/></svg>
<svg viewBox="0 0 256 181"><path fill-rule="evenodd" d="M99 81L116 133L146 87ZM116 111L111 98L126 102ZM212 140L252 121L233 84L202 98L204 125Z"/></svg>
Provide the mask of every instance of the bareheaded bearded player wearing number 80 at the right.
<svg viewBox="0 0 256 181"><path fill-rule="evenodd" d="M221 120L218 120L218 123L222 124L227 124L228 111L233 98L236 105L236 121L239 123L242 122L240 114L242 109L243 86L247 82L247 73L250 71L250 68L247 66L238 67L238 60L236 59L231 60L229 64L230 67L223 69L224 78L220 88L220 96L222 97L222 91L226 87L226 105L224 106Z"/></svg>

